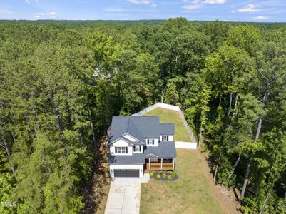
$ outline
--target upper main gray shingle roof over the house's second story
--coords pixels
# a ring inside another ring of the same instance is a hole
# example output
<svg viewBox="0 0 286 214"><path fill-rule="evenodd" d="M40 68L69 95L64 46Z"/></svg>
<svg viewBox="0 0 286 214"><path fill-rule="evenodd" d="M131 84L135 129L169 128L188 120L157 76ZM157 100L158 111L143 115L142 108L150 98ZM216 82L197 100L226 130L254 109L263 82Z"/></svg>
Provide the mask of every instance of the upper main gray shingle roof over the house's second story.
<svg viewBox="0 0 286 214"><path fill-rule="evenodd" d="M175 133L173 123L160 123L158 116L113 116L109 143L128 133L145 143L145 138L160 138L160 134Z"/></svg>

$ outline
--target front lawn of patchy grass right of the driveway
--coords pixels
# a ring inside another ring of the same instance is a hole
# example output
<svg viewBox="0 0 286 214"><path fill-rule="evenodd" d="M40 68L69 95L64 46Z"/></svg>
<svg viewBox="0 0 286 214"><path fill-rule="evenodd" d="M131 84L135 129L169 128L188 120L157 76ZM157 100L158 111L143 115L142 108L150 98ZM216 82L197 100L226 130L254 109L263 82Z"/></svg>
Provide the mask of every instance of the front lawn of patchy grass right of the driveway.
<svg viewBox="0 0 286 214"><path fill-rule="evenodd" d="M178 180L151 179L141 185L141 213L238 213L213 183L198 151L177 149Z"/></svg>

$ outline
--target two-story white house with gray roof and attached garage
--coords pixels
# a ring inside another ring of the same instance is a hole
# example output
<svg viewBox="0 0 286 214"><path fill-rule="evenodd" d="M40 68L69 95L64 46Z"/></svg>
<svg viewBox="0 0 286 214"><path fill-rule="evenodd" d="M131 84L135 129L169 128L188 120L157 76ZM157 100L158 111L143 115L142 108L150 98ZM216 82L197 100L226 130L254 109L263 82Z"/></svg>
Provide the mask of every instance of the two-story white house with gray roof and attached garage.
<svg viewBox="0 0 286 214"><path fill-rule="evenodd" d="M174 124L160 123L158 116L113 116L108 131L111 178L175 169L174 133Z"/></svg>

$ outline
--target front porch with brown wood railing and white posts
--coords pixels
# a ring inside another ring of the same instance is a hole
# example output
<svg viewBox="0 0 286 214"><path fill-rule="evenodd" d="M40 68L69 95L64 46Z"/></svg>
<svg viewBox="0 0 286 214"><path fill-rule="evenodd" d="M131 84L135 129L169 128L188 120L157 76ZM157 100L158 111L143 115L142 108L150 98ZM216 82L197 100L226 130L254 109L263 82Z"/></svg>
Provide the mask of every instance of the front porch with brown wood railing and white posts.
<svg viewBox="0 0 286 214"><path fill-rule="evenodd" d="M144 173L150 170L174 170L175 158L145 158Z"/></svg>

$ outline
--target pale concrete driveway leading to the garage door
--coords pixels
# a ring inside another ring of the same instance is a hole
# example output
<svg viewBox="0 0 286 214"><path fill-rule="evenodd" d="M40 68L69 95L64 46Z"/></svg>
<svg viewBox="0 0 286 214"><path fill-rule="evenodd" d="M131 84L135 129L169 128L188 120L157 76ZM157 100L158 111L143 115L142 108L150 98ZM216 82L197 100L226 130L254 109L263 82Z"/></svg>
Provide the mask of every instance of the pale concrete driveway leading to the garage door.
<svg viewBox="0 0 286 214"><path fill-rule="evenodd" d="M105 214L136 214L140 210L141 178L114 178L111 181Z"/></svg>

